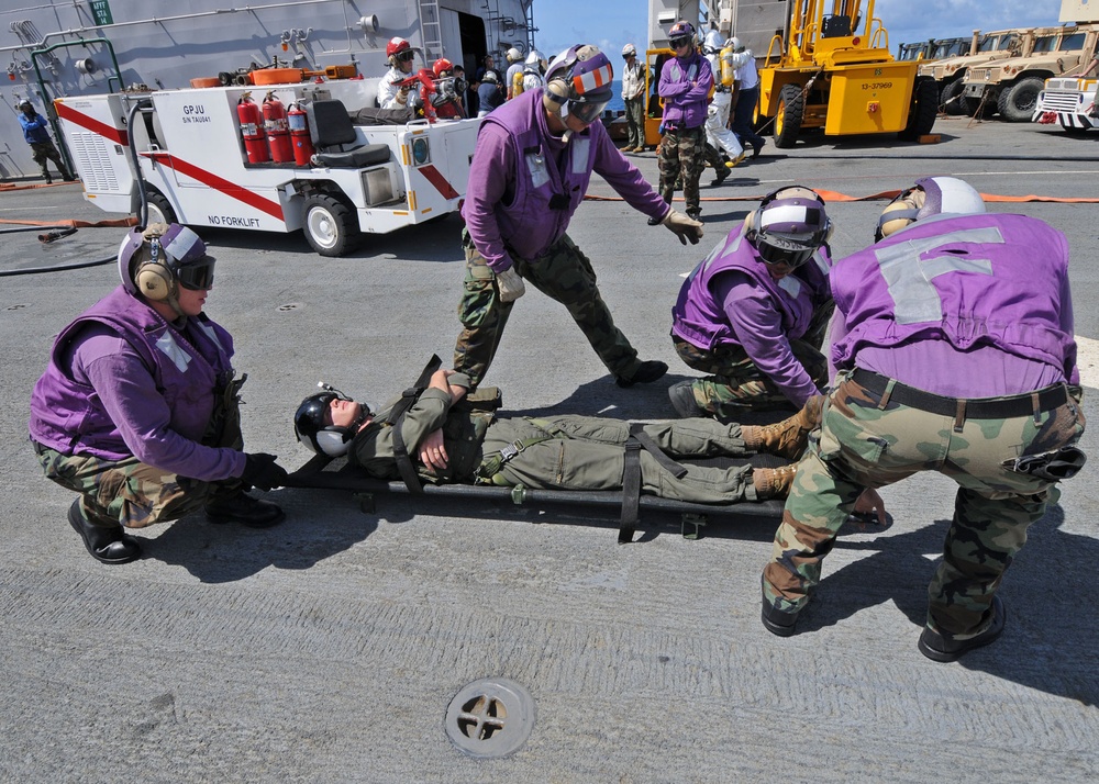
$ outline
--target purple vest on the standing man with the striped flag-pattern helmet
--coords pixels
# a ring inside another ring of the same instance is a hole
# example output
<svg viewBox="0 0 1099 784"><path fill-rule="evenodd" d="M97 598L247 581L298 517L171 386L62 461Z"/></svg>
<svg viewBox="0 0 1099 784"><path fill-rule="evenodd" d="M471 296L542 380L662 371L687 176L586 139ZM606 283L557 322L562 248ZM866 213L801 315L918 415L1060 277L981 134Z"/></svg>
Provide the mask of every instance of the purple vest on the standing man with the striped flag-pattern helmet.
<svg viewBox="0 0 1099 784"><path fill-rule="evenodd" d="M573 134L558 169L556 154L547 148L551 133L542 108L543 91L529 90L481 121L504 128L514 146L515 192L510 204L496 205L496 221L508 247L526 260L540 256L565 234L588 190L598 147L596 137L607 133L602 123L596 122L587 131ZM550 208L555 194L568 199L565 209Z"/></svg>

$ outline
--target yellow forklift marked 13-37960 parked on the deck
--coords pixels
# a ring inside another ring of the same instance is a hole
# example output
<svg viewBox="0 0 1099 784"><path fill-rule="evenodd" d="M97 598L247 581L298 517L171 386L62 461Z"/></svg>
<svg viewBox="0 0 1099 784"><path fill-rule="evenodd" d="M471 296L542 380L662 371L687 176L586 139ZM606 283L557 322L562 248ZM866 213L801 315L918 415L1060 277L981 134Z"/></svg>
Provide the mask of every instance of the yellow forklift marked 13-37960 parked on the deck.
<svg viewBox="0 0 1099 784"><path fill-rule="evenodd" d="M773 120L775 146L792 147L802 131L826 136L929 134L937 113L932 79L918 60L889 53L874 0L789 0L785 37L776 34L759 67L756 121ZM865 7L865 8L864 8Z"/></svg>

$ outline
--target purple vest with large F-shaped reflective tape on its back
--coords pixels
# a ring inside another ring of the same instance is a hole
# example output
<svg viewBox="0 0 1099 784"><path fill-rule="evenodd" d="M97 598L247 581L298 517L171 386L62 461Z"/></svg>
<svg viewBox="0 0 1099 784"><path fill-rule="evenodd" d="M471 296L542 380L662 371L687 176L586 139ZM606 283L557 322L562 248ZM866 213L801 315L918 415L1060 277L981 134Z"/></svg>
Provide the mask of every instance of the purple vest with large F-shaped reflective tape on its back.
<svg viewBox="0 0 1099 784"><path fill-rule="evenodd" d="M847 326L832 346L839 369L867 346L948 340L959 350L992 345L1078 381L1076 341L1062 326L1072 313L1068 243L1042 221L924 219L837 261L832 291Z"/></svg>

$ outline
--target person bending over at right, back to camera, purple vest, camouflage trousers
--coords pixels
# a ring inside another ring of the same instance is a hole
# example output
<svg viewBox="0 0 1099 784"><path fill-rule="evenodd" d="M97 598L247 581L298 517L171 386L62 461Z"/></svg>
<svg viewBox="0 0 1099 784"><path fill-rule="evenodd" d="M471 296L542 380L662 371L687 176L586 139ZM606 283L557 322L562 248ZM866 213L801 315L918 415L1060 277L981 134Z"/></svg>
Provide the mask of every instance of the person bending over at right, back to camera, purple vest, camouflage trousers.
<svg viewBox="0 0 1099 784"><path fill-rule="evenodd" d="M918 647L954 661L1003 631L1003 574L1085 461L1068 244L986 214L953 177L918 180L878 236L832 269L837 374L763 572L763 624L795 634L861 496L884 522L875 488L937 471L958 491Z"/></svg>

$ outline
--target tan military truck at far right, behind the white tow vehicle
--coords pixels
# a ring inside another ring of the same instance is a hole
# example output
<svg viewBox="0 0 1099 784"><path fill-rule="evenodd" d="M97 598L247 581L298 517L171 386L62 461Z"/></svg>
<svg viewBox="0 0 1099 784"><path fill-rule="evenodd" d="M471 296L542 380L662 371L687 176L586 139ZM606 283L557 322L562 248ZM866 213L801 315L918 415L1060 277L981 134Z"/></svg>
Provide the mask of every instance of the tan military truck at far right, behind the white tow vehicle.
<svg viewBox="0 0 1099 784"><path fill-rule="evenodd" d="M967 69L962 96L973 115L1012 123L1030 122L1046 79L1073 71L1090 59L1099 24L1037 27L1031 52Z"/></svg>

